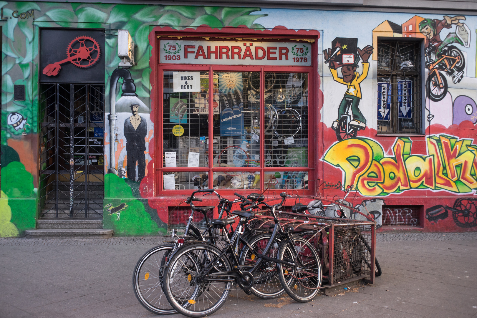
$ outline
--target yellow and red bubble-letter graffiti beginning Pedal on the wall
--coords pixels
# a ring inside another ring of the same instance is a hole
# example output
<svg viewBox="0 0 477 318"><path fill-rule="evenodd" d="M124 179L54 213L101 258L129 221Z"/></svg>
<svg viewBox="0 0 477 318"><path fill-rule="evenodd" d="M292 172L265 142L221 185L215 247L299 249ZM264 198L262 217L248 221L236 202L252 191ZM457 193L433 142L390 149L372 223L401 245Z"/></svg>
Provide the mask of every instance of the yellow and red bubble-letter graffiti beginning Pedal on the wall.
<svg viewBox="0 0 477 318"><path fill-rule="evenodd" d="M369 138L333 144L323 157L343 171L343 184L362 195L389 195L410 189L471 193L477 189L477 145L446 134L426 137L427 154L411 154L411 139L398 137L393 155Z"/></svg>

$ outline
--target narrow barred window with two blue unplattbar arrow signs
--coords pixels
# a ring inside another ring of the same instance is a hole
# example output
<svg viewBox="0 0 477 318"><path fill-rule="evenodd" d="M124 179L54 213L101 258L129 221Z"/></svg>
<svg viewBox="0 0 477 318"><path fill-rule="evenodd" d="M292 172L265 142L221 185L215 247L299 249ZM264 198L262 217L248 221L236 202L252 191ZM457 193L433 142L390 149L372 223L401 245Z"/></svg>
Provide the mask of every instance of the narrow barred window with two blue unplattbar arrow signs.
<svg viewBox="0 0 477 318"><path fill-rule="evenodd" d="M421 48L378 40L378 133L422 133Z"/></svg>

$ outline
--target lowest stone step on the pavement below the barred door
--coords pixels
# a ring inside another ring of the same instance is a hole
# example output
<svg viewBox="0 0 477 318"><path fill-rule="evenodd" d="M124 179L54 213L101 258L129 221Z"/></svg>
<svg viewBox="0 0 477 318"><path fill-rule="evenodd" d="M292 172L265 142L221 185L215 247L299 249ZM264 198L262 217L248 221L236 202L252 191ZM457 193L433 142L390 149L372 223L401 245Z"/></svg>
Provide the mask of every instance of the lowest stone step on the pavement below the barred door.
<svg viewBox="0 0 477 318"><path fill-rule="evenodd" d="M27 238L33 239L65 239L65 238L110 238L114 230L102 228L52 228L26 230Z"/></svg>

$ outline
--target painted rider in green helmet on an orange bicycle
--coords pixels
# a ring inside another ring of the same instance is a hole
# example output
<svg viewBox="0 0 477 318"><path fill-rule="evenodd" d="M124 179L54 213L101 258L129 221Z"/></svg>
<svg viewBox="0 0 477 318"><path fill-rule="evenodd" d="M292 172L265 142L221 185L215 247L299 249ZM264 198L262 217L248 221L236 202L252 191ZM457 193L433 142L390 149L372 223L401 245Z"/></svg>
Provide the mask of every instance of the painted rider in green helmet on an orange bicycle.
<svg viewBox="0 0 477 318"><path fill-rule="evenodd" d="M452 76L452 81L455 84L464 77L466 62L462 52L456 46L450 44L457 43L467 48L470 46L470 31L461 20L466 20L466 17L449 17L445 15L443 20L424 19L419 23L419 31L427 38L427 47L425 49L426 67L429 68L429 71L436 68L436 70L446 72L447 75ZM451 29L453 25L456 26L455 32L449 32L446 38L441 40L441 31L443 29ZM439 86L444 91L446 90L446 87L444 87L446 83L440 80L439 77L436 75L434 81L436 89ZM440 95L445 94L432 95L431 92L431 99L437 101L444 97L440 98Z"/></svg>

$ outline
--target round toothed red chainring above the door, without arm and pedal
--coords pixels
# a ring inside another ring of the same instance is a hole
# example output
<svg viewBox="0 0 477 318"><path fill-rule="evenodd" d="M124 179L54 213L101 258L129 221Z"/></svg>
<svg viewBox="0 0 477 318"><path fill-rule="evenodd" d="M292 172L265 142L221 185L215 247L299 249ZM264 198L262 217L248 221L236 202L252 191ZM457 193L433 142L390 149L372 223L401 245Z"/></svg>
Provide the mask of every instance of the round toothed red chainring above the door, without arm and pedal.
<svg viewBox="0 0 477 318"><path fill-rule="evenodd" d="M98 62L101 49L98 42L89 36L79 36L68 44L66 51L73 65L86 68Z"/></svg>

